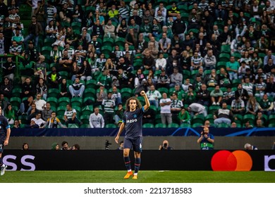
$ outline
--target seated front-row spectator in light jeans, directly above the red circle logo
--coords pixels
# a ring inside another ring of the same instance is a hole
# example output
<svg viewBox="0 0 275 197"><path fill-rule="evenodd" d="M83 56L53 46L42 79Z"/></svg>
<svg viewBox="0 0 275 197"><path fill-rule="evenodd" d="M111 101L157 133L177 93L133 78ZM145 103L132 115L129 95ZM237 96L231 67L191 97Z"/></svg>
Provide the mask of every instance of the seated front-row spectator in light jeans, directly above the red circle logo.
<svg viewBox="0 0 275 197"><path fill-rule="evenodd" d="M231 117L233 117L233 113L231 110L228 110L226 103L222 103L221 108L216 110L214 114L214 124L226 123L227 125L231 125Z"/></svg>

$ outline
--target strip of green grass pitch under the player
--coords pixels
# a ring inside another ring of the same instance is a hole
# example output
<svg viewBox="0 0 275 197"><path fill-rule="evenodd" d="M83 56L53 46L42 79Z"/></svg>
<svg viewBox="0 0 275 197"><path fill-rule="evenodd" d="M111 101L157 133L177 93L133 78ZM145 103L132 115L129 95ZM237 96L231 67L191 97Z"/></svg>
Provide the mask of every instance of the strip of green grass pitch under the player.
<svg viewBox="0 0 275 197"><path fill-rule="evenodd" d="M274 183L274 172L142 171L138 180L126 171L6 171L0 183Z"/></svg>

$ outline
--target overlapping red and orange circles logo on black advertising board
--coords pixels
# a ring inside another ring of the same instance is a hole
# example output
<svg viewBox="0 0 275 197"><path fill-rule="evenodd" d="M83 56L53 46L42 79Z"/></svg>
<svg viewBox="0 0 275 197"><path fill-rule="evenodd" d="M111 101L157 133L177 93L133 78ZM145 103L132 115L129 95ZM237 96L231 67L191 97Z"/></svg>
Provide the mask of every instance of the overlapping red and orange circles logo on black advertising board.
<svg viewBox="0 0 275 197"><path fill-rule="evenodd" d="M245 151L218 151L211 160L213 171L250 171L252 158Z"/></svg>

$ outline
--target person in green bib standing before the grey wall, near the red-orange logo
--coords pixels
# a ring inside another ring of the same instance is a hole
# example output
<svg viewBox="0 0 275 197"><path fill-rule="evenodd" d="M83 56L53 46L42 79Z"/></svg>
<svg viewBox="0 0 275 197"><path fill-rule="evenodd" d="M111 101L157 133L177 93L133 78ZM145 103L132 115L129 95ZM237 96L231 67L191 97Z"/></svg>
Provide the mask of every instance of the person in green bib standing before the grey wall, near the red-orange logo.
<svg viewBox="0 0 275 197"><path fill-rule="evenodd" d="M200 133L200 138L197 139L197 143L200 144L201 150L214 149L214 136L209 134L208 127L203 127L203 131Z"/></svg>

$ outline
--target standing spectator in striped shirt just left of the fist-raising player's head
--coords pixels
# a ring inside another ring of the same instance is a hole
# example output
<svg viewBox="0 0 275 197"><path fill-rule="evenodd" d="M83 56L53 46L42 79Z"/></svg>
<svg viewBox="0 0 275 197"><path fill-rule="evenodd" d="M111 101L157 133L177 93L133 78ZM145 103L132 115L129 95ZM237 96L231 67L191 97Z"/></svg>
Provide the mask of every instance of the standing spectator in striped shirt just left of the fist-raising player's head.
<svg viewBox="0 0 275 197"><path fill-rule="evenodd" d="M102 101L102 106L104 107L104 121L105 124L112 124L114 119L114 108L116 103L111 99L112 93L108 92L107 98Z"/></svg>

